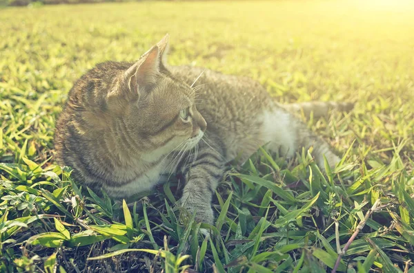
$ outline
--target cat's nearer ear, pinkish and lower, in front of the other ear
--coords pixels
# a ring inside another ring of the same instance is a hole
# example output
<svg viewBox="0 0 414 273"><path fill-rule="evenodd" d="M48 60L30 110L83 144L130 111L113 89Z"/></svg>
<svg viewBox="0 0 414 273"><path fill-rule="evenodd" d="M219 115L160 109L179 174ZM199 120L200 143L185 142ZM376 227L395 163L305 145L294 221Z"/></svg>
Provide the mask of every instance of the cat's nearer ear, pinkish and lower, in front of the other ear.
<svg viewBox="0 0 414 273"><path fill-rule="evenodd" d="M130 91L138 91L139 87L148 87L155 83L159 73L159 47L151 47L137 63L125 72L125 79Z"/></svg>

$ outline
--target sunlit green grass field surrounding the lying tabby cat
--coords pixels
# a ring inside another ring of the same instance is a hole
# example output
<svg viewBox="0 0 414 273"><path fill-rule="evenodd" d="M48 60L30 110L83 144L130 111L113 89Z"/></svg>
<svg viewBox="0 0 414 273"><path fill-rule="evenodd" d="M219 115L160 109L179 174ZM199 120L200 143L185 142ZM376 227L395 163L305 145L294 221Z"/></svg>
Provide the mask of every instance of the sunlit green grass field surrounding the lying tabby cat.
<svg viewBox="0 0 414 273"><path fill-rule="evenodd" d="M340 272L414 272L414 4L41 6L0 25L0 272L330 272L338 253ZM342 164L258 151L217 189L210 239L179 217L174 179L130 208L80 188L53 160L68 90L167 32L170 64L250 76L280 102L356 102L307 121Z"/></svg>

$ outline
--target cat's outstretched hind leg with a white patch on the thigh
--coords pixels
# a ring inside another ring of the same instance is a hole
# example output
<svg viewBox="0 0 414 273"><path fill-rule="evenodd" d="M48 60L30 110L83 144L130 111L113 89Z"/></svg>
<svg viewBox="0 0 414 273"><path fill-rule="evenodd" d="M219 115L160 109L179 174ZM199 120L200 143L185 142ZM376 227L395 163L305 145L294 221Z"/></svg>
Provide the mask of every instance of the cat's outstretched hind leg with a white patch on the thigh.
<svg viewBox="0 0 414 273"><path fill-rule="evenodd" d="M295 152L302 151L302 148L309 149L313 146L313 156L319 168L325 168L324 157L331 168L340 161L326 141L284 109L265 111L260 120L263 124L264 142L268 143L271 151L279 151L282 156L292 157Z"/></svg>

